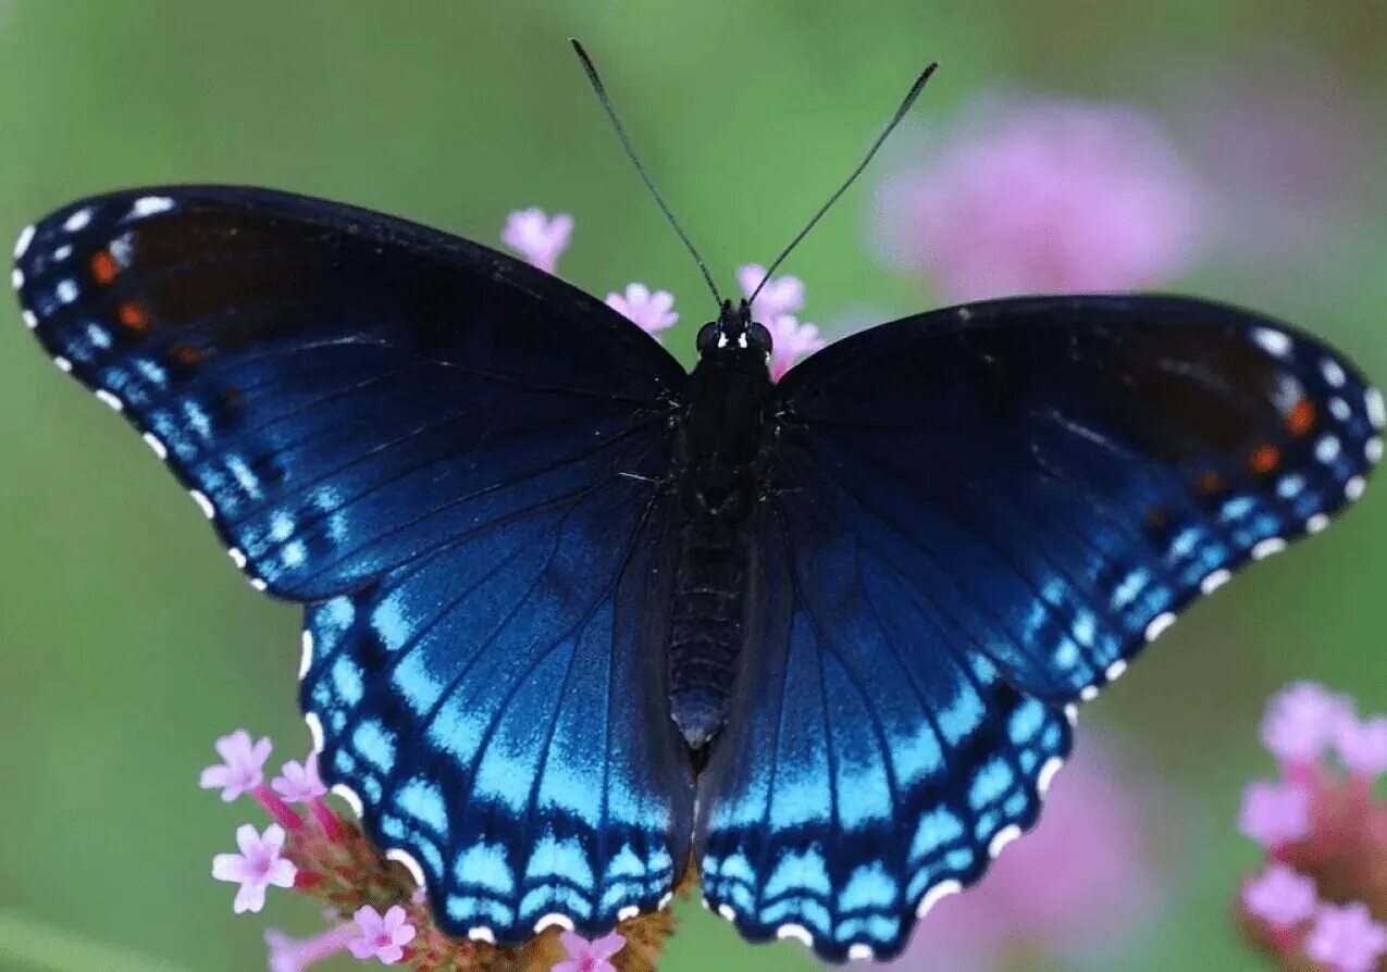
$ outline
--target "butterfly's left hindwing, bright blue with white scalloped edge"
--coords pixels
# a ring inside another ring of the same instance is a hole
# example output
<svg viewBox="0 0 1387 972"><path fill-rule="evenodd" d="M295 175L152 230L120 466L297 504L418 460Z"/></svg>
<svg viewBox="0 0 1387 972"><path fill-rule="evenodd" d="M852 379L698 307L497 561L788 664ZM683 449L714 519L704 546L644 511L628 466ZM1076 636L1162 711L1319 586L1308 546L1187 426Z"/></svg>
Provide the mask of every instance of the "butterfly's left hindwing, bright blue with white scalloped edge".
<svg viewBox="0 0 1387 972"><path fill-rule="evenodd" d="M442 928L516 943L663 905L692 771L666 697L663 426L580 483L311 607L329 779L423 872Z"/></svg>

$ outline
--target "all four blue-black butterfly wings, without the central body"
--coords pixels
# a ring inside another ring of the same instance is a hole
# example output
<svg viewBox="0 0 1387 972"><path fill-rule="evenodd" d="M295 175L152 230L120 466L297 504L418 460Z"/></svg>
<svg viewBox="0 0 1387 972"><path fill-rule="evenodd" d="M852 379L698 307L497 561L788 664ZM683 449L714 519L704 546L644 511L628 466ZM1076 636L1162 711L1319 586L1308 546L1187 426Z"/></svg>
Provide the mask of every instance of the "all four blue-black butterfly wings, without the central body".
<svg viewBox="0 0 1387 972"><path fill-rule="evenodd" d="M1076 706L1383 451L1341 356L1207 302L847 338L774 392L695 779L666 670L687 376L632 324L465 240L218 187L64 208L14 286L251 584L307 606L325 776L480 940L666 907L692 850L752 940L899 953L1036 821Z"/></svg>

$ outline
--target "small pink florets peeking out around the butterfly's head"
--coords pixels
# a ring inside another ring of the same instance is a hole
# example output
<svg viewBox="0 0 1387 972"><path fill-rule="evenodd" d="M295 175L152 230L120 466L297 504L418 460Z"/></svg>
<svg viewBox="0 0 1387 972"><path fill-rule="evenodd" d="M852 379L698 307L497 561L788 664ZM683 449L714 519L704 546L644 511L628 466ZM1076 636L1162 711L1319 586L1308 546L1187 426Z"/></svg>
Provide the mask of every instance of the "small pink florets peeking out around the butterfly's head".
<svg viewBox="0 0 1387 972"><path fill-rule="evenodd" d="M516 209L506 218L501 241L527 262L548 273L555 272L559 255L567 248L573 234L573 216L548 216L542 209ZM748 263L736 270L736 281L743 297L750 297L766 277L766 268ZM644 283L630 283L621 293L606 295L606 304L652 337L678 323L674 295L667 290L651 290ZM779 381L791 366L824 347L824 338L814 324L799 319L804 309L804 284L799 277L768 280L752 304L752 318L771 333L771 379Z"/></svg>

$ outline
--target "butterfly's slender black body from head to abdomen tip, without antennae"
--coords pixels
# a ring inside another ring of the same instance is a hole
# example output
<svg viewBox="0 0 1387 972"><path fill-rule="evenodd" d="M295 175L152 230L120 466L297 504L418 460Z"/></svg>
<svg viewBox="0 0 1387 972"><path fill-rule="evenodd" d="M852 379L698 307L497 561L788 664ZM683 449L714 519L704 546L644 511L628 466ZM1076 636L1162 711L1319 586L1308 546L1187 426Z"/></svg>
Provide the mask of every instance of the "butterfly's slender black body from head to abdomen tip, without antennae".
<svg viewBox="0 0 1387 972"><path fill-rule="evenodd" d="M670 713L692 749L723 725L745 636L749 526L761 494L773 388L770 340L756 327L745 306L724 306L699 334L699 363L674 437L680 524Z"/></svg>

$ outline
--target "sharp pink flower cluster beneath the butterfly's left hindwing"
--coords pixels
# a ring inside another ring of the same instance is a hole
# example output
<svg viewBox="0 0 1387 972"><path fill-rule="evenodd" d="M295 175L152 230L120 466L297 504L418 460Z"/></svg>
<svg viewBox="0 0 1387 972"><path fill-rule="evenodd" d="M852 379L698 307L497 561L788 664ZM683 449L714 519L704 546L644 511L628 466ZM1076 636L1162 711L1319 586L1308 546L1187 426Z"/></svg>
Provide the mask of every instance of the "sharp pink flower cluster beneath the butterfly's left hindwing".
<svg viewBox="0 0 1387 972"><path fill-rule="evenodd" d="M354 824L323 801L327 788L318 775L315 754L302 763L290 760L266 785L269 739L254 740L245 729L236 729L218 739L215 747L222 761L203 771L203 789L221 790L227 803L248 795L275 818L264 831L243 824L236 831L240 853L212 858L212 876L237 885L232 910L258 912L270 887L293 887L350 917L304 940L266 930L270 972L302 972L343 953L420 972L617 972L610 960L621 951L626 937L616 932L596 941L569 932L556 943L537 939L531 943L535 947L517 950L448 939L433 925L424 892L404 867L383 858ZM307 815L291 804L305 807ZM659 933L667 933L667 915L646 917L644 925L641 921L631 925L653 932L656 944ZM558 944L567 958L555 962Z"/></svg>

